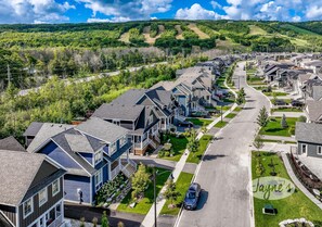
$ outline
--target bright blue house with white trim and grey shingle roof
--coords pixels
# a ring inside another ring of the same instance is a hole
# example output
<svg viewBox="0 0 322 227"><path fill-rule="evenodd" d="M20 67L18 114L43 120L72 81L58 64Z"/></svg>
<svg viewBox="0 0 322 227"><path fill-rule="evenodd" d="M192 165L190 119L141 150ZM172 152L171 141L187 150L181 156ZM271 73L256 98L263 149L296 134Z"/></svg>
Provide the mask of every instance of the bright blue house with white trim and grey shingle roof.
<svg viewBox="0 0 322 227"><path fill-rule="evenodd" d="M128 156L132 148L128 130L120 126L92 117L54 135L44 128L51 129L42 126L27 150L46 154L67 169L66 201L93 204L106 181L121 171L128 177L136 171Z"/></svg>

